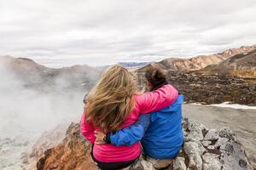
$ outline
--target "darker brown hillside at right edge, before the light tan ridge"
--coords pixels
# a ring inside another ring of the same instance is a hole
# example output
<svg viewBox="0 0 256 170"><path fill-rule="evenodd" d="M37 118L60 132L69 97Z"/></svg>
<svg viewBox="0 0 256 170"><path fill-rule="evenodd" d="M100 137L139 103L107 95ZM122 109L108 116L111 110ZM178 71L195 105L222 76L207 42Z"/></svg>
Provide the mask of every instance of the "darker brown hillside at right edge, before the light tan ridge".
<svg viewBox="0 0 256 170"><path fill-rule="evenodd" d="M245 54L236 54L218 65L209 65L198 71L207 75L231 75L256 78L256 50Z"/></svg>

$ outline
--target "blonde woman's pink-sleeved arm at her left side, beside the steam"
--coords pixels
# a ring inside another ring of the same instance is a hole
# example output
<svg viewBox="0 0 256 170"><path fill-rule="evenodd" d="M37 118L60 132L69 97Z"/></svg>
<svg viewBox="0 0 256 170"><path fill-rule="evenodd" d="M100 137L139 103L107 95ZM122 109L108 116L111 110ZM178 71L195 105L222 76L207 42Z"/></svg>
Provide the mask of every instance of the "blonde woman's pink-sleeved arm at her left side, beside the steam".
<svg viewBox="0 0 256 170"><path fill-rule="evenodd" d="M85 139L89 140L91 144L95 142L95 128L91 123L85 121L86 111L84 110L84 114L80 121L80 133L84 136Z"/></svg>

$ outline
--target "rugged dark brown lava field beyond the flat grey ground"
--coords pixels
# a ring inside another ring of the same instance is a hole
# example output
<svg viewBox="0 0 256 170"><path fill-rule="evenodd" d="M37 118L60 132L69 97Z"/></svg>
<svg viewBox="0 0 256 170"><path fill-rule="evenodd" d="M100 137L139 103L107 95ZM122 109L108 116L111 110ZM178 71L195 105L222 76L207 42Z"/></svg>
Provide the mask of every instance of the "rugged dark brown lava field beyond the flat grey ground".
<svg viewBox="0 0 256 170"><path fill-rule="evenodd" d="M144 72L136 72L139 86L145 84ZM187 103L220 104L226 101L241 105L256 105L256 79L230 76L206 76L194 73L166 71L168 82L185 96Z"/></svg>

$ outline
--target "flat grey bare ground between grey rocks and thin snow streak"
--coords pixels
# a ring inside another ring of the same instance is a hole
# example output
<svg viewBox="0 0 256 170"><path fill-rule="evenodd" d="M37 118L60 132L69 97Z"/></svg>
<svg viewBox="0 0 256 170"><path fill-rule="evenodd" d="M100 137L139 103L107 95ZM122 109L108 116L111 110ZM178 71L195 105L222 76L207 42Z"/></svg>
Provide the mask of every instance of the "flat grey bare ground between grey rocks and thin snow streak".
<svg viewBox="0 0 256 170"><path fill-rule="evenodd" d="M243 144L253 167L256 167L256 110L183 105L183 116L209 128L230 127Z"/></svg>

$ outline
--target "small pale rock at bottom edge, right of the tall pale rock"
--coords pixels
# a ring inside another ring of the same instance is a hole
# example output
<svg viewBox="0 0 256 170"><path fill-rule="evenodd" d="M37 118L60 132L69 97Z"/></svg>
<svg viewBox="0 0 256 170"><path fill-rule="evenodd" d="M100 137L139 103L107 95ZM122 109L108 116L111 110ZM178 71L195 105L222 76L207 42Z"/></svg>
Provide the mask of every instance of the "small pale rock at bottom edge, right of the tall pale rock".
<svg viewBox="0 0 256 170"><path fill-rule="evenodd" d="M222 164L217 154L206 153L202 156L203 170L221 170Z"/></svg>

